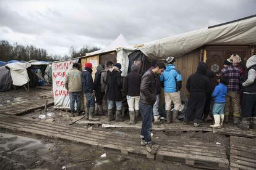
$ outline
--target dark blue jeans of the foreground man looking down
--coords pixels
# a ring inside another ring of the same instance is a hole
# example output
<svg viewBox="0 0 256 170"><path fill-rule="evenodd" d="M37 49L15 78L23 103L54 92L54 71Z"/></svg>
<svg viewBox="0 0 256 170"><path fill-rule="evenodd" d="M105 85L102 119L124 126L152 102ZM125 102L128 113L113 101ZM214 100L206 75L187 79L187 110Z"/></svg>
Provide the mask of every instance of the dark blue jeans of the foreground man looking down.
<svg viewBox="0 0 256 170"><path fill-rule="evenodd" d="M152 128L152 115L153 106L146 105L139 102L140 113L142 114L142 130L140 131L140 137L144 138L145 142L151 143L151 131Z"/></svg>

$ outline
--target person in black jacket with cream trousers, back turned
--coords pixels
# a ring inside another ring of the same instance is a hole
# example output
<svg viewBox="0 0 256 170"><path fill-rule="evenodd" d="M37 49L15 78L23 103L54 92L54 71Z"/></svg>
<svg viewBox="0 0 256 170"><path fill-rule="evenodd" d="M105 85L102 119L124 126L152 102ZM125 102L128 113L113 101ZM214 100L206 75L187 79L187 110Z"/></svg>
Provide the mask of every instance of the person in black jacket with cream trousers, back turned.
<svg viewBox="0 0 256 170"><path fill-rule="evenodd" d="M138 73L139 67L132 65L132 71L126 76L125 90L129 106L129 124L135 124L139 116L140 81L142 76Z"/></svg>

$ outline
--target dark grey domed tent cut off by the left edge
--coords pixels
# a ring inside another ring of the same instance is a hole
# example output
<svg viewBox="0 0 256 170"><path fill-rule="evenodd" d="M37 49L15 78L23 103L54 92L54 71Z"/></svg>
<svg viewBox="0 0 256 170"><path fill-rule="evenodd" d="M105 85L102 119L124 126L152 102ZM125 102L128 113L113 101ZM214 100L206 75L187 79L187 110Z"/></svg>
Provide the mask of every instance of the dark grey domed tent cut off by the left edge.
<svg viewBox="0 0 256 170"><path fill-rule="evenodd" d="M9 91L12 87L11 72L6 67L0 67L0 92Z"/></svg>

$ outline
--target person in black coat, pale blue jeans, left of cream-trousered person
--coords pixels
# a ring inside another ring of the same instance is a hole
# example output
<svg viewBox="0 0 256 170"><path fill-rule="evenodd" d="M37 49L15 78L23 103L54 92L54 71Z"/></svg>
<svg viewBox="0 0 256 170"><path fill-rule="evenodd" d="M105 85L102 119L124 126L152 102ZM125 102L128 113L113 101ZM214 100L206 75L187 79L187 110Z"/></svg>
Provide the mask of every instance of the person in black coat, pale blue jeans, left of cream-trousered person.
<svg viewBox="0 0 256 170"><path fill-rule="evenodd" d="M122 77L121 64L116 63L114 67L109 68L106 78L106 94L108 99L108 121L113 121L114 104L116 103L116 121L124 121L122 118Z"/></svg>

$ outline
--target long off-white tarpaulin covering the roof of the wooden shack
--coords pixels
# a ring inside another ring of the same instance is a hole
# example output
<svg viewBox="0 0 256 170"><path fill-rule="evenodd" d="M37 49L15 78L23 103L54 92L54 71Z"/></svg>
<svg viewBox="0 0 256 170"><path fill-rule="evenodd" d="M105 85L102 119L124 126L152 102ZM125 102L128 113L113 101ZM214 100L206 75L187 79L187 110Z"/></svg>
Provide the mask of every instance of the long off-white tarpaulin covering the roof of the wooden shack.
<svg viewBox="0 0 256 170"><path fill-rule="evenodd" d="M256 17L147 42L139 49L151 60L160 60L187 54L205 44L256 44Z"/></svg>

